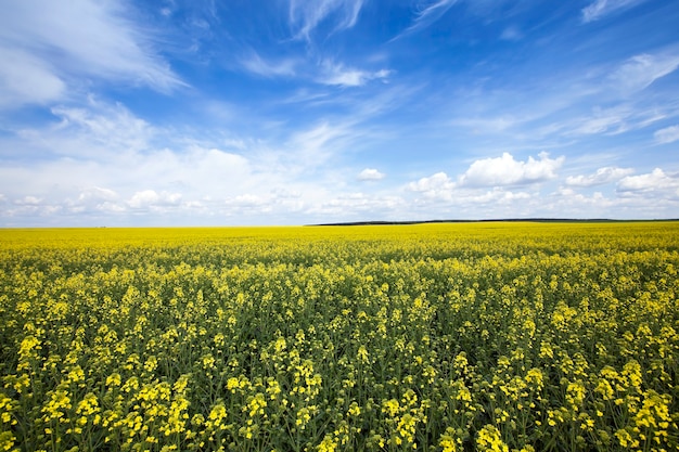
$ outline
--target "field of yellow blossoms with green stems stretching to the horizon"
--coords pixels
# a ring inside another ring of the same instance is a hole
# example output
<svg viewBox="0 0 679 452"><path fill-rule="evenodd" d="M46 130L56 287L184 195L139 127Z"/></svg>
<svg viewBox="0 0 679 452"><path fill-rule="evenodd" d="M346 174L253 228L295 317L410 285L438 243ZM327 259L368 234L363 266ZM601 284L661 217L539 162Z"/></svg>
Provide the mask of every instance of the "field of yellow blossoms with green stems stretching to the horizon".
<svg viewBox="0 0 679 452"><path fill-rule="evenodd" d="M0 451L676 451L679 223L0 231Z"/></svg>

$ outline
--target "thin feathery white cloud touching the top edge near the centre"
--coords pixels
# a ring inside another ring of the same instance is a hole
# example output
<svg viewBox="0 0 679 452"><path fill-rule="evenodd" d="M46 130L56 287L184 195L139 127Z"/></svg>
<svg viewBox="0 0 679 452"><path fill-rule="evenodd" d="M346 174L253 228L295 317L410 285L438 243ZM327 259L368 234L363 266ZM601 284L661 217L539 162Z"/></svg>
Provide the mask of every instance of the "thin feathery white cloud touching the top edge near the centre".
<svg viewBox="0 0 679 452"><path fill-rule="evenodd" d="M334 21L333 31L356 25L363 0L290 0L290 24L295 38L309 40L309 35L324 21Z"/></svg>

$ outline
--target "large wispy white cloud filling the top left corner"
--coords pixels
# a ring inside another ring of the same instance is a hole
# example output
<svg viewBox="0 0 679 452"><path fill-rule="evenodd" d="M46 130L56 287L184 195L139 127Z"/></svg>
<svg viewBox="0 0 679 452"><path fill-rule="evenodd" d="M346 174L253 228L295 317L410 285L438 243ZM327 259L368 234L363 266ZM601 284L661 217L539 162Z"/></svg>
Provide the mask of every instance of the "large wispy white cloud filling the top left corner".
<svg viewBox="0 0 679 452"><path fill-rule="evenodd" d="M2 10L1 107L62 99L66 80L92 76L158 91L184 85L120 4L24 0Z"/></svg>

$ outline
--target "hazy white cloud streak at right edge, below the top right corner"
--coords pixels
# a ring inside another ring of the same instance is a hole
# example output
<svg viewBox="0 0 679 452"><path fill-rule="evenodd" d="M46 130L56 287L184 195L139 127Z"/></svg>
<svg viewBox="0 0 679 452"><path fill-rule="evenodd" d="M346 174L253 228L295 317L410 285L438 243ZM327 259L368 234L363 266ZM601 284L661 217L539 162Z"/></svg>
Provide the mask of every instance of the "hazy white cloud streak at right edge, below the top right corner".
<svg viewBox="0 0 679 452"><path fill-rule="evenodd" d="M658 78L671 74L679 67L679 54L666 52L642 53L623 63L612 75L611 80L625 92L641 91Z"/></svg>

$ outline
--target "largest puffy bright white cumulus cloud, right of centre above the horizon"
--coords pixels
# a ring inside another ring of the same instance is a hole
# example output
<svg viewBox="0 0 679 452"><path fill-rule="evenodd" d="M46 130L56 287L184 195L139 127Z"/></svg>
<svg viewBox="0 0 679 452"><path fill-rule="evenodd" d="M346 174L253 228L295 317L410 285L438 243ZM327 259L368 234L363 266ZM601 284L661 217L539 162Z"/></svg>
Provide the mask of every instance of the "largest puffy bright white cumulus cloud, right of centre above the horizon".
<svg viewBox="0 0 679 452"><path fill-rule="evenodd" d="M474 162L460 177L460 184L466 186L521 185L542 182L556 177L556 170L564 157L549 158L540 153L539 159L528 157L528 162L517 162L509 153L501 157L483 158Z"/></svg>

